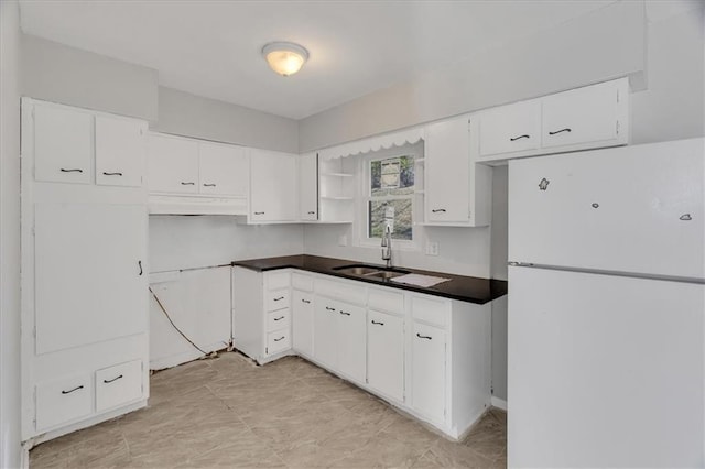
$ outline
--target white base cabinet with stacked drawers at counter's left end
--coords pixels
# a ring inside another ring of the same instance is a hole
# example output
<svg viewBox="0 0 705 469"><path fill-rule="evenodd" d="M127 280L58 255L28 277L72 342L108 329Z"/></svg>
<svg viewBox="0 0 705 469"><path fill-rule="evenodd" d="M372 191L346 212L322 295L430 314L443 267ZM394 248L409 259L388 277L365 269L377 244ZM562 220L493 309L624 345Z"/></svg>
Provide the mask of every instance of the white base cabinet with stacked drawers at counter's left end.
<svg viewBox="0 0 705 469"><path fill-rule="evenodd" d="M290 272L232 269L232 345L259 363L291 349Z"/></svg>

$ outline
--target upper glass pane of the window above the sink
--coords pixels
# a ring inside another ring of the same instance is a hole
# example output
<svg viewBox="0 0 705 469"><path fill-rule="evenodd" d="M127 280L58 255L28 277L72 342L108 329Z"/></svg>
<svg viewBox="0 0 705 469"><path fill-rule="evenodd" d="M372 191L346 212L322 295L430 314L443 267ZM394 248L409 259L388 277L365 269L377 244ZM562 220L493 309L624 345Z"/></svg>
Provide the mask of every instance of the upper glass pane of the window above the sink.
<svg viewBox="0 0 705 469"><path fill-rule="evenodd" d="M413 192L413 156L394 156L370 162L370 196L399 196Z"/></svg>

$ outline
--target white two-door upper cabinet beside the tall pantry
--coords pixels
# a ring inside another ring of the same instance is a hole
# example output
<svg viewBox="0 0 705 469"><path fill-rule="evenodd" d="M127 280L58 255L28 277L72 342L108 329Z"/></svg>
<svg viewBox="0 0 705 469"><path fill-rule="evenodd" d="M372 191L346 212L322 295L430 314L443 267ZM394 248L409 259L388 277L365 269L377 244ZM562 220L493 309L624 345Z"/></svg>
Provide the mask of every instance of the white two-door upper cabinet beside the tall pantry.
<svg viewBox="0 0 705 469"><path fill-rule="evenodd" d="M152 214L246 214L243 146L151 133L148 154Z"/></svg>

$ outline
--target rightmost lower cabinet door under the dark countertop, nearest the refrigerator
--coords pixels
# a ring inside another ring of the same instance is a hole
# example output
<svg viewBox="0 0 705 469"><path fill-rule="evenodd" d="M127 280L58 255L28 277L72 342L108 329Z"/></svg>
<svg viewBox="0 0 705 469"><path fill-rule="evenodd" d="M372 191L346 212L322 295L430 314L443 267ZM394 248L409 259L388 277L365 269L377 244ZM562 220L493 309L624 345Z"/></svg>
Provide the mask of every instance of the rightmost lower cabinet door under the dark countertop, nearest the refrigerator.
<svg viewBox="0 0 705 469"><path fill-rule="evenodd" d="M412 407L434 422L445 419L445 331L414 323L411 347Z"/></svg>

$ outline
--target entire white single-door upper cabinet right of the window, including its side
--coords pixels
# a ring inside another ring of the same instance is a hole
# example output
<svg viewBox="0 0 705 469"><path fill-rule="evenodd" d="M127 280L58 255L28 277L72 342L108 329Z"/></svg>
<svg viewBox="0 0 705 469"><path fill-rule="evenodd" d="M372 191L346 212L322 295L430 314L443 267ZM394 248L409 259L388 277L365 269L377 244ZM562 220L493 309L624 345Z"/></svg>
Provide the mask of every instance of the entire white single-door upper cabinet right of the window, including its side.
<svg viewBox="0 0 705 469"><path fill-rule="evenodd" d="M489 225L491 170L476 165L467 116L425 129L425 225Z"/></svg>

